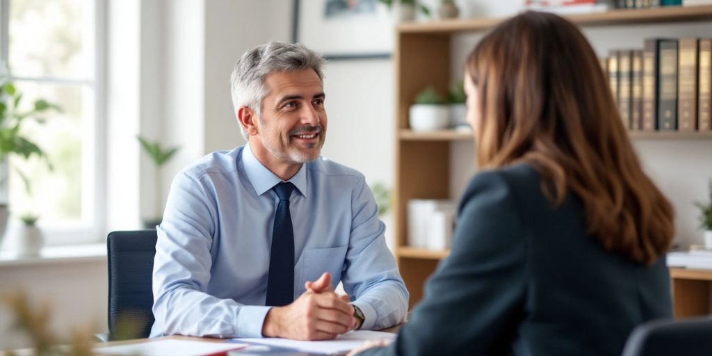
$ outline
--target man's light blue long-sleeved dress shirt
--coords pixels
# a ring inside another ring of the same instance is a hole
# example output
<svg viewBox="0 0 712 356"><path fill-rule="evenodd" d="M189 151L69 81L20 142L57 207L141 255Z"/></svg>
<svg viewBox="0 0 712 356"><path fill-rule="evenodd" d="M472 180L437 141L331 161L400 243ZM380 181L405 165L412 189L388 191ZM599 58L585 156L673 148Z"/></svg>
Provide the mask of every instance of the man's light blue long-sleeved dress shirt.
<svg viewBox="0 0 712 356"><path fill-rule="evenodd" d="M262 336L279 182L248 145L207 155L174 178L157 228L152 337ZM401 323L409 294L364 176L320 157L289 182L294 298L330 272L364 313L363 329Z"/></svg>

